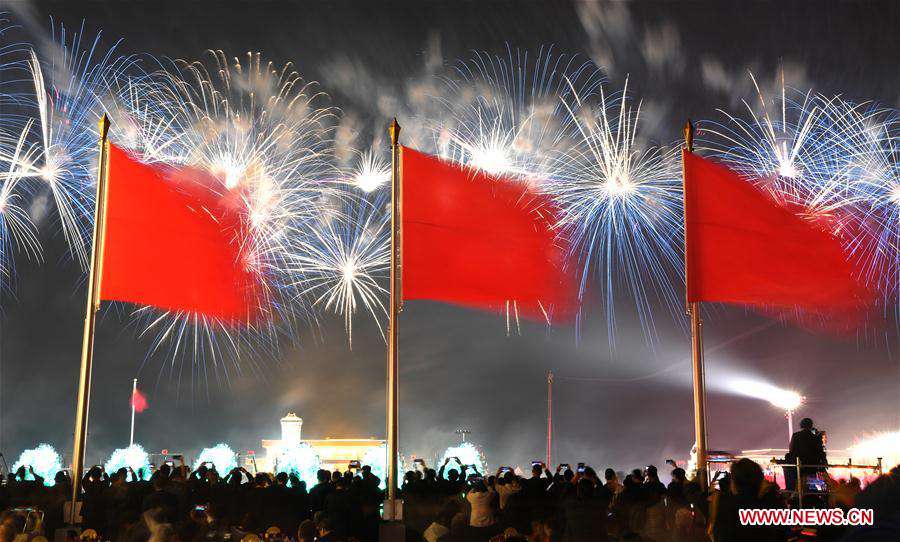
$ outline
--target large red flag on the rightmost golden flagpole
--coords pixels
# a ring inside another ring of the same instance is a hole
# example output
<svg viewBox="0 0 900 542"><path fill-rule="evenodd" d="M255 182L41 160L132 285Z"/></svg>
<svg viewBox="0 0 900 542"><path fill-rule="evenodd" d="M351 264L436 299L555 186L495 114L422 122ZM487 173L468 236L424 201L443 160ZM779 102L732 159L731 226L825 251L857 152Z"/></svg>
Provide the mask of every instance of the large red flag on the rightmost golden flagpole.
<svg viewBox="0 0 900 542"><path fill-rule="evenodd" d="M683 159L689 302L862 317L873 296L839 239L728 168Z"/></svg>

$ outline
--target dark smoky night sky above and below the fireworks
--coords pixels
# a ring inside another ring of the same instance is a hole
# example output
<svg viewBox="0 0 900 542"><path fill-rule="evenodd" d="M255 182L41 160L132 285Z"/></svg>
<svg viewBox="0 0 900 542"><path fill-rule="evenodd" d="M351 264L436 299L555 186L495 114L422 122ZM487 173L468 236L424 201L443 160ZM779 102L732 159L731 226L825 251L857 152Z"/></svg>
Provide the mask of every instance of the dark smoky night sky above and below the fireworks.
<svg viewBox="0 0 900 542"><path fill-rule="evenodd" d="M373 134L386 127L388 109L405 89L433 76L429 61L437 59L440 72L472 50L502 55L507 45L586 55L607 69L614 88L628 75L644 98L647 129L664 142L679 137L688 117L718 119L716 108L734 110L740 97L753 98L748 69L764 85L783 67L797 88L892 106L900 98L900 14L888 2L4 4L23 26L17 37L33 43L46 36L51 17L69 28L83 19L90 34L103 30L104 43L122 38L124 52L195 59L207 49L231 56L254 50L276 63L294 61ZM415 122L398 109L401 124ZM14 295L2 300L0 451L10 463L39 442L67 455L72 446L84 277L52 224L41 229L46 261L20 258ZM401 450L433 457L458 442L454 430L466 428L491 465L543 458L552 370L555 458L619 469L685 459L693 442L686 321L660 308L651 347L623 303L613 349L595 301L580 340L569 327L536 324L507 336L496 315L407 303L400 323ZM261 374L229 383L215 367L170 376L168 360L146 358L149 341L127 322L116 310L100 316L90 463L127 445L135 376L150 401L136 437L148 450L190 454L221 441L259 450L261 438L278 436L278 419L288 411L304 418L310 438L383 438L385 346L365 317L354 323L352 349L342 321L326 319L316 333L298 329L299 343L284 343L275 359L258 359ZM800 390L808 404L799 414L828 430L832 448L900 429L895 323L839 340L712 307L705 330L712 449L786 446L782 412L725 391L739 376Z"/></svg>

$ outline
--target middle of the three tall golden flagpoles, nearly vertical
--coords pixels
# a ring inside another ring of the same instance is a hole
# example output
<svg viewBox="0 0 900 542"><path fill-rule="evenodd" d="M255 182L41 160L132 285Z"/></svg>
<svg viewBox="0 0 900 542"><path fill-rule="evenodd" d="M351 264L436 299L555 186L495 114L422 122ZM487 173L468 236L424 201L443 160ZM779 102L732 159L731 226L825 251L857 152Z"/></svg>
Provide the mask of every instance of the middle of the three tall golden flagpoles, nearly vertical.
<svg viewBox="0 0 900 542"><path fill-rule="evenodd" d="M397 316L400 312L401 275L400 275L400 125L395 118L388 128L391 136L391 289L390 315L387 340L387 503L385 517L388 521L402 519L400 504L397 499L399 478L397 472L398 457L398 351L397 351Z"/></svg>

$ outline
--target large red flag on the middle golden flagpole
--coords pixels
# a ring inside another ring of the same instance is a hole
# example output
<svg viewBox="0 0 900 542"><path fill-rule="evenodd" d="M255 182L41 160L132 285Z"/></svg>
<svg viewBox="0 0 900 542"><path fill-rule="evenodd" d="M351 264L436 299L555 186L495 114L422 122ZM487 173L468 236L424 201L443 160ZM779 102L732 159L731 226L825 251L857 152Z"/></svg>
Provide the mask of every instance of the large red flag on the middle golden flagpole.
<svg viewBox="0 0 900 542"><path fill-rule="evenodd" d="M514 180L401 150L403 298L571 316L575 280L552 202Z"/></svg>

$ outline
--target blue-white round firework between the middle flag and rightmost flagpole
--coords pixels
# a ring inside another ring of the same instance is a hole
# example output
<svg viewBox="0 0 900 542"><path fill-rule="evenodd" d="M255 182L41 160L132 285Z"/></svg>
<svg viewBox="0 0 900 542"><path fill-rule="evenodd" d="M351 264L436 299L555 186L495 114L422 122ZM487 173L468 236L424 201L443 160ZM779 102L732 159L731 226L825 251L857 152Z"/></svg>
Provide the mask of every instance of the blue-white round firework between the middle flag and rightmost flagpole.
<svg viewBox="0 0 900 542"><path fill-rule="evenodd" d="M546 189L561 210L559 228L580 265L580 294L596 278L606 306L610 344L615 338L617 293L624 285L653 342L651 295L673 314L680 308L674 288L682 277L681 178L677 149L639 138L640 102L622 93L598 101L578 92L561 98L573 131L573 146L557 152ZM683 280L683 277L682 277Z"/></svg>

